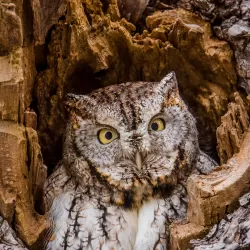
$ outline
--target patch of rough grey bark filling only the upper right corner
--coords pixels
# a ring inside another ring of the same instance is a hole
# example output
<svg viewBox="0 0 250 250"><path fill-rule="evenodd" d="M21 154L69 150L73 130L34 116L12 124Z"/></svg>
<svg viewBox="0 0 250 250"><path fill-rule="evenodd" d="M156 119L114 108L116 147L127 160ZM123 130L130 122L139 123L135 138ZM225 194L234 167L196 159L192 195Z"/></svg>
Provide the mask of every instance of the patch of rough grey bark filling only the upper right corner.
<svg viewBox="0 0 250 250"><path fill-rule="evenodd" d="M250 93L250 27L248 0L193 0L193 8L214 23L217 37L228 41L234 49L239 85Z"/></svg>

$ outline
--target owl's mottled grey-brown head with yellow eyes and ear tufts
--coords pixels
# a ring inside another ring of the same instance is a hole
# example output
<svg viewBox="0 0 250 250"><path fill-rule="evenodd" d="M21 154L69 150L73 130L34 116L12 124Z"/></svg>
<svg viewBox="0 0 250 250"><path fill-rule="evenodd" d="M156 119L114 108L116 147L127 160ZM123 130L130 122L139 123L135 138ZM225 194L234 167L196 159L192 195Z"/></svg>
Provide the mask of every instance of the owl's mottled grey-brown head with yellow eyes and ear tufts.
<svg viewBox="0 0 250 250"><path fill-rule="evenodd" d="M174 73L160 82L69 94L67 106L65 158L86 161L91 175L114 189L176 185L197 157L195 119L179 96ZM72 171L81 176L80 168Z"/></svg>

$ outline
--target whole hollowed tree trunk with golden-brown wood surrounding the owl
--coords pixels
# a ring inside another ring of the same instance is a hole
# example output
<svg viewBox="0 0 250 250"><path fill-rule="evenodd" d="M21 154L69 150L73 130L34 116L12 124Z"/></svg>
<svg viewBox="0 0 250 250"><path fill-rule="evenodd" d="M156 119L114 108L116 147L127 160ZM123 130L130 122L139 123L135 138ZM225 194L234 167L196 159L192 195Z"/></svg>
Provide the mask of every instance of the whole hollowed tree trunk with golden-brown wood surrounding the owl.
<svg viewBox="0 0 250 250"><path fill-rule="evenodd" d="M221 219L195 249L247 247L248 195L238 199L250 191L249 21L247 0L0 0L0 247L42 249L65 94L170 71L201 148L221 163L188 180L188 218L172 224L171 249L188 249Z"/></svg>

